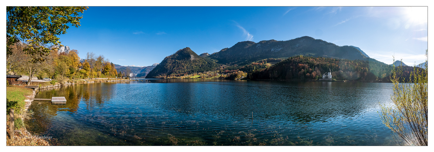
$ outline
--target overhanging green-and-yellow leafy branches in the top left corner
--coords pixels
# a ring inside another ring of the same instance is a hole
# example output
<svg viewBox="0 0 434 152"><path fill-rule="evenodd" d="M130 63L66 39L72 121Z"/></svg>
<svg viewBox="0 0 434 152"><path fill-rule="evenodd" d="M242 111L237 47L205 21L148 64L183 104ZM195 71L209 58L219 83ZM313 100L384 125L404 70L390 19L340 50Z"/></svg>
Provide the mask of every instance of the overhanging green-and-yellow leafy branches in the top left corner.
<svg viewBox="0 0 434 152"><path fill-rule="evenodd" d="M23 49L30 62L41 63L51 50L48 44L60 44L60 34L65 34L67 25L80 26L79 13L88 7L6 7L6 52L13 53L13 44L26 41Z"/></svg>

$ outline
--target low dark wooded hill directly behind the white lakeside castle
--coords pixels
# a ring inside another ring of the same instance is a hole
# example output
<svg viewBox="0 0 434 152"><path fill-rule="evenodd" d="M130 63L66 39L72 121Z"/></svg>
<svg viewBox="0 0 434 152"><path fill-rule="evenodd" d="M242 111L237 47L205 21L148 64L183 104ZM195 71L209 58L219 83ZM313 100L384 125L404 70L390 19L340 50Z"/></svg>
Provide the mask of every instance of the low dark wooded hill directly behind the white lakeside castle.
<svg viewBox="0 0 434 152"><path fill-rule="evenodd" d="M375 59L293 56L269 68L253 72L251 79L322 79L322 74L331 70L333 79L338 80L388 81L392 68Z"/></svg>

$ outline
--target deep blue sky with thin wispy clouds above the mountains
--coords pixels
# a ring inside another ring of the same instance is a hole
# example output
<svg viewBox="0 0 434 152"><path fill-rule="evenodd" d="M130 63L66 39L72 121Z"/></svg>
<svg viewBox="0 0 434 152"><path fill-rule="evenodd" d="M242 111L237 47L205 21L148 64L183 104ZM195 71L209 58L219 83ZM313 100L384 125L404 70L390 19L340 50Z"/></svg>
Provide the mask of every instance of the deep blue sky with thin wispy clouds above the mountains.
<svg viewBox="0 0 434 152"><path fill-rule="evenodd" d="M357 46L371 58L425 61L427 7L89 7L63 45L122 66L160 63L184 47L214 53L237 42L301 36Z"/></svg>

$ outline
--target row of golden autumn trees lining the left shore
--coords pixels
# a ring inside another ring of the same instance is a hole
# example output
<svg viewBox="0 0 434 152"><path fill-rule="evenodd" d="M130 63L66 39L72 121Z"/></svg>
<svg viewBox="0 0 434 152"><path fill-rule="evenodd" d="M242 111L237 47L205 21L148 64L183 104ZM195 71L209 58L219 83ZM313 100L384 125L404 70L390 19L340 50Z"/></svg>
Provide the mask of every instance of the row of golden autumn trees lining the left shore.
<svg viewBox="0 0 434 152"><path fill-rule="evenodd" d="M23 52L28 46L29 44L21 42L10 46L12 53L7 54L7 74L60 80L114 78L121 74L116 71L115 65L109 59L103 55L96 56L92 52L87 53L86 58L81 60L78 50L70 50L66 53L58 52L57 48L53 48L47 56L38 56L41 60L31 61L36 55Z"/></svg>

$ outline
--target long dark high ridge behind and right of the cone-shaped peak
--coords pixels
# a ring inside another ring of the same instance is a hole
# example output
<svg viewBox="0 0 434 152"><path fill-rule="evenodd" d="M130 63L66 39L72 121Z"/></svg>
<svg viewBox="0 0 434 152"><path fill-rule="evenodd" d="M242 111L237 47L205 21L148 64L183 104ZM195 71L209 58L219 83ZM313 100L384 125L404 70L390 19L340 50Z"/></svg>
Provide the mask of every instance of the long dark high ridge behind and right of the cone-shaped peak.
<svg viewBox="0 0 434 152"><path fill-rule="evenodd" d="M337 46L323 40L303 36L287 41L238 42L232 47L222 49L208 57L216 59L217 63L221 64L238 64L242 62L248 64L260 59L288 58L297 55L339 59L367 59L368 57L362 52L352 46Z"/></svg>

